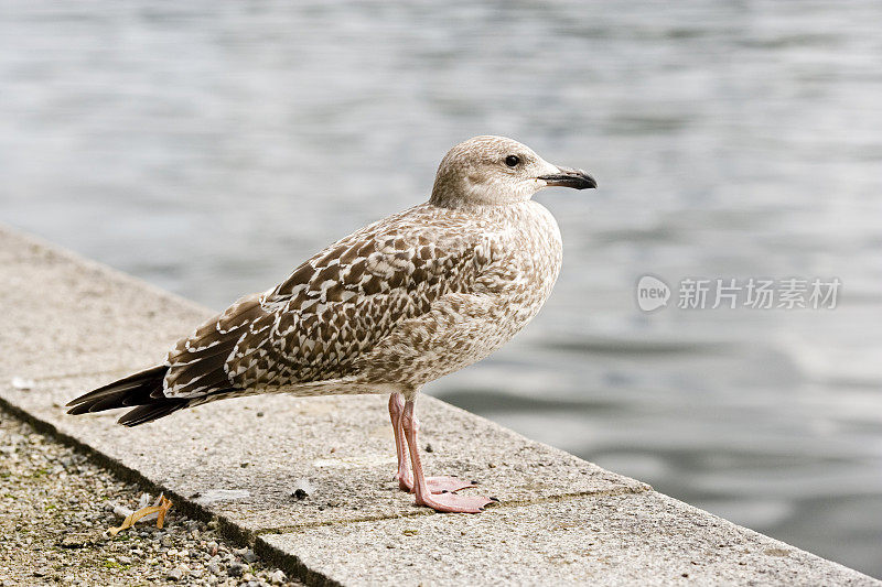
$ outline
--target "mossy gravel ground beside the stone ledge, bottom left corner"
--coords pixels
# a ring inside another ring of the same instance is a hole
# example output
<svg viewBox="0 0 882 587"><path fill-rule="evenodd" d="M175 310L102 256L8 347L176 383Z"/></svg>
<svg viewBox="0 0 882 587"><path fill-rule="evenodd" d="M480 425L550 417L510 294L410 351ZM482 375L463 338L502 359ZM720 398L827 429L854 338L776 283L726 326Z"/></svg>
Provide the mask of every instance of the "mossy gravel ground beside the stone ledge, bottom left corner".
<svg viewBox="0 0 882 587"><path fill-rule="evenodd" d="M114 507L137 509L141 493L0 412L0 585L302 585L174 506L162 530L141 521L111 537Z"/></svg>

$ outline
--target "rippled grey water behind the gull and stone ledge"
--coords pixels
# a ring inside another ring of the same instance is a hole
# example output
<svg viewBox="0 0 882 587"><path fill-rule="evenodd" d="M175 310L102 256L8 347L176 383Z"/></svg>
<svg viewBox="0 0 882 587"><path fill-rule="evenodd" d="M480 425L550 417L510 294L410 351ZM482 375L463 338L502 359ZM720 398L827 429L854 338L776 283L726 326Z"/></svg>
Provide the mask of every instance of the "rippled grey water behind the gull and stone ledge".
<svg viewBox="0 0 882 587"><path fill-rule="evenodd" d="M219 308L515 137L601 189L538 196L552 300L431 393L882 576L882 4L181 4L0 3L0 219Z"/></svg>

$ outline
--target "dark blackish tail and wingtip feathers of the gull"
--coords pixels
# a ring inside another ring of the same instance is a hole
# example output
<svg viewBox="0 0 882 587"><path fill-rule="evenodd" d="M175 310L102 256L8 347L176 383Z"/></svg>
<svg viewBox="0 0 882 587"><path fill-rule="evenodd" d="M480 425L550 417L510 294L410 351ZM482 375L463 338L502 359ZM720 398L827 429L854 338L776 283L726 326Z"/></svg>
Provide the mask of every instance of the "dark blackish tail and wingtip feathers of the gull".
<svg viewBox="0 0 882 587"><path fill-rule="evenodd" d="M190 403L185 398L165 398L162 394L162 381L168 370L168 366L160 365L100 387L71 401L67 413L77 415L136 406L119 418L119 423L126 426L166 416Z"/></svg>

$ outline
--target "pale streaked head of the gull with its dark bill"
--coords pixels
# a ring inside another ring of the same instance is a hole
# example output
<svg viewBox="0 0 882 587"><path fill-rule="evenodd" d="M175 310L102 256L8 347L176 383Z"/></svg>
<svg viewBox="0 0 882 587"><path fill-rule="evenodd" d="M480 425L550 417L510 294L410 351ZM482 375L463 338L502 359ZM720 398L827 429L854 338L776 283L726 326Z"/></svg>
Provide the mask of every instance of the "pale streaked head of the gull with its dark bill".
<svg viewBox="0 0 882 587"><path fill-rule="evenodd" d="M445 207L505 205L527 200L550 186L584 189L598 184L585 172L552 165L515 140L475 137L441 160L431 203Z"/></svg>

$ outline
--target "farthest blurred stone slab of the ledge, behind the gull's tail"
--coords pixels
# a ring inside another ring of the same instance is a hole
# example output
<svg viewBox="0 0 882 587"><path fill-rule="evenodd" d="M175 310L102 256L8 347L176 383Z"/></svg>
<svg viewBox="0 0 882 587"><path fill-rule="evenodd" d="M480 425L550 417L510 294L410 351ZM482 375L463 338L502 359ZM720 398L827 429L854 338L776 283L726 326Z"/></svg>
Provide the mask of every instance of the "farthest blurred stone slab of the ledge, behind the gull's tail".
<svg viewBox="0 0 882 587"><path fill-rule="evenodd" d="M208 311L0 225L0 378L155 362Z"/></svg>

